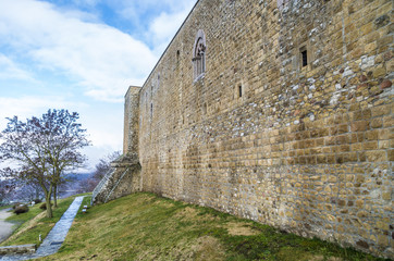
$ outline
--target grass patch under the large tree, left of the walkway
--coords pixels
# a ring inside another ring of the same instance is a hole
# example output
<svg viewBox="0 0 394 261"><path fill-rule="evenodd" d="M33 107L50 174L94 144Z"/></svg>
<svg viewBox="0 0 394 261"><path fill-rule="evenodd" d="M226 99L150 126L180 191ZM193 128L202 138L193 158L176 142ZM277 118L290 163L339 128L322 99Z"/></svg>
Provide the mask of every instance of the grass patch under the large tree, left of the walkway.
<svg viewBox="0 0 394 261"><path fill-rule="evenodd" d="M69 209L76 196L58 200L58 208L53 209L53 217L46 217L46 210L39 209L41 203L32 208L27 213L13 214L7 221L15 223L19 227L10 238L1 243L0 246L37 244L40 245L39 235L44 239L63 213Z"/></svg>

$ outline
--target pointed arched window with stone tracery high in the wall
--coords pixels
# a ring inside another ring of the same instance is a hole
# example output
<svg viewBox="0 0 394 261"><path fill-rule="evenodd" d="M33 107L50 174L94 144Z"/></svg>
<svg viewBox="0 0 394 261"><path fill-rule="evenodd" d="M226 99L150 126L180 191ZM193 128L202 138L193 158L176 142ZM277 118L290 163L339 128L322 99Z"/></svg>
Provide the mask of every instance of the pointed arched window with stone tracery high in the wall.
<svg viewBox="0 0 394 261"><path fill-rule="evenodd" d="M199 29L193 48L193 70L194 78L197 79L206 71L206 36L204 30Z"/></svg>

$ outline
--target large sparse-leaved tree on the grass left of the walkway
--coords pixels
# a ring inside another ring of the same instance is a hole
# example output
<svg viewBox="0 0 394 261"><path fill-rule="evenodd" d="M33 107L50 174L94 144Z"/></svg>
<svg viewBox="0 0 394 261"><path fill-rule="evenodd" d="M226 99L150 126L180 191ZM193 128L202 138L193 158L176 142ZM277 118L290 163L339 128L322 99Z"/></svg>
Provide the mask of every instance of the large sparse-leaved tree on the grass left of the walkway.
<svg viewBox="0 0 394 261"><path fill-rule="evenodd" d="M41 187L47 202L47 216L52 216L51 196L65 172L82 167L86 157L78 150L89 145L86 129L76 123L78 113L67 110L48 110L42 117L21 122L8 119L1 133L0 160L10 161L2 174ZM54 207L57 200L54 200Z"/></svg>

